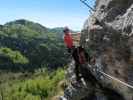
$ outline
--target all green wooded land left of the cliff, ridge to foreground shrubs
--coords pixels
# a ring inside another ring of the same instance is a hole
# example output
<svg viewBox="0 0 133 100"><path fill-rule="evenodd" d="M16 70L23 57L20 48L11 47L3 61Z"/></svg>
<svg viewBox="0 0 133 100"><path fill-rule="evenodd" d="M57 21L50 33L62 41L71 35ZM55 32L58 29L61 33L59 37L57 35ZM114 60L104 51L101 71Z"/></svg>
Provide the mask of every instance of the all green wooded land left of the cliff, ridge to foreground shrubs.
<svg viewBox="0 0 133 100"><path fill-rule="evenodd" d="M67 62L63 28L24 19L0 25L0 100L61 95Z"/></svg>

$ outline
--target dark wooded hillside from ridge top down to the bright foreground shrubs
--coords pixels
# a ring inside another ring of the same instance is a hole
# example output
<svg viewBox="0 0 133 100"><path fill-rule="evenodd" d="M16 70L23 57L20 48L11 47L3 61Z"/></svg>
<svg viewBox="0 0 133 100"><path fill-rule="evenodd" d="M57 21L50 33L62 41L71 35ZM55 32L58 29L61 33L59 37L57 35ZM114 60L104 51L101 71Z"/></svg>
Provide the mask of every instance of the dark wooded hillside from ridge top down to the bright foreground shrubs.
<svg viewBox="0 0 133 100"><path fill-rule="evenodd" d="M42 66L63 66L67 60L62 36L63 27L50 29L25 19L0 25L0 53L4 56L0 56L0 69L32 70ZM28 64L13 62L21 61L20 57L11 56L17 51L17 56L27 59ZM5 58L9 59L8 62Z"/></svg>

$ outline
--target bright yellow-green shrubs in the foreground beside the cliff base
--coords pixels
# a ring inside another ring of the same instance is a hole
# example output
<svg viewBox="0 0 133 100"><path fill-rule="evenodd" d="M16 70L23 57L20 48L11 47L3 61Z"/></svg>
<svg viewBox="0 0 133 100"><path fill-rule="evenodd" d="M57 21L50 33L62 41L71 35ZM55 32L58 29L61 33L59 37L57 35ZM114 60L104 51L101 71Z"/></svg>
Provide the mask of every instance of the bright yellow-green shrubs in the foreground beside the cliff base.
<svg viewBox="0 0 133 100"><path fill-rule="evenodd" d="M36 72L37 73L37 72ZM5 85L3 89L5 100L50 100L51 97L60 93L59 83L64 80L65 73L63 69L57 69L54 72L40 72L38 76L33 74L32 79L25 81L13 81L12 85ZM44 74L46 73L46 74ZM11 80L10 80L11 81Z"/></svg>

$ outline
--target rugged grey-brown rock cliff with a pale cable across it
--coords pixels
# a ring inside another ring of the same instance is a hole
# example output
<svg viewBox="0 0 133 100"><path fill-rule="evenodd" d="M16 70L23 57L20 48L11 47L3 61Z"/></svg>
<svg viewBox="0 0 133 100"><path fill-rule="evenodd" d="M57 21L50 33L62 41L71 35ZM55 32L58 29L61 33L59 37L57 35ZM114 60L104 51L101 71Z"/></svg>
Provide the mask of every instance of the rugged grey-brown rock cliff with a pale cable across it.
<svg viewBox="0 0 133 100"><path fill-rule="evenodd" d="M96 59L85 64L75 82L74 62L68 69L68 100L133 100L133 0L97 0L85 22L81 45ZM109 76L108 76L109 75ZM111 76L111 77L110 77Z"/></svg>

